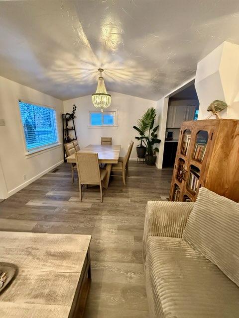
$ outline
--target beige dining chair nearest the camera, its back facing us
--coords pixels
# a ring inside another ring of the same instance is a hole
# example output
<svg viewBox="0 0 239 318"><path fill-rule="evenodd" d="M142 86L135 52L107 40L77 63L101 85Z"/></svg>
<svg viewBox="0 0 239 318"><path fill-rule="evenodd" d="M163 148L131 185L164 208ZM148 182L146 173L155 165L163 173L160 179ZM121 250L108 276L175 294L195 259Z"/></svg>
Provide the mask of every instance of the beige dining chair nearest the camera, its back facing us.
<svg viewBox="0 0 239 318"><path fill-rule="evenodd" d="M75 153L79 178L80 201L82 201L82 186L84 184L99 184L101 202L103 202L102 184L107 181L107 170L99 166L97 153Z"/></svg>

